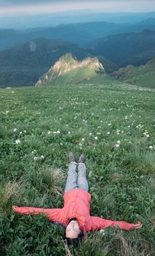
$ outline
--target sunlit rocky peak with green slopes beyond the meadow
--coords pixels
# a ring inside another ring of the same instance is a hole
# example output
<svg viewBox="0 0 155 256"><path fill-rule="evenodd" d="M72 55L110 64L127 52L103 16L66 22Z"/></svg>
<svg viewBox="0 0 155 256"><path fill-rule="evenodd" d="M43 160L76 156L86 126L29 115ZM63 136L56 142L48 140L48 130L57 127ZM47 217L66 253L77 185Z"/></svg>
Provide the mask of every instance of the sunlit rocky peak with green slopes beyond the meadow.
<svg viewBox="0 0 155 256"><path fill-rule="evenodd" d="M98 58L87 58L77 61L72 53L66 53L38 80L36 86L77 84L84 79L105 74L105 69Z"/></svg>

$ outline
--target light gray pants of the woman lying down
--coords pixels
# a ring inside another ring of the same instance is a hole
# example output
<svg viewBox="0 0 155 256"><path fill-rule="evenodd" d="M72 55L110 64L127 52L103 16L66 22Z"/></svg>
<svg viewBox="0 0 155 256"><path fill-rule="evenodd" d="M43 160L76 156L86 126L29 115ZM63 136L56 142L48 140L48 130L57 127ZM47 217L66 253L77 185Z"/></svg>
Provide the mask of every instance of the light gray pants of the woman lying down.
<svg viewBox="0 0 155 256"><path fill-rule="evenodd" d="M76 173L76 167L78 173ZM65 192L70 189L84 189L88 192L88 183L86 178L86 165L83 162L70 162L68 166L68 176L65 184Z"/></svg>

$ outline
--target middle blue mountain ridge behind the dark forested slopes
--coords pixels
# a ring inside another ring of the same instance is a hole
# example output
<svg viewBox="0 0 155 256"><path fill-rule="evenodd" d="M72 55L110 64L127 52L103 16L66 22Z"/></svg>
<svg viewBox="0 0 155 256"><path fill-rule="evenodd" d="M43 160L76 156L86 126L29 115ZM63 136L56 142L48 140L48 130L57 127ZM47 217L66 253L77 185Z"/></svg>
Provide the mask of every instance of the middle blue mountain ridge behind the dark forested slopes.
<svg viewBox="0 0 155 256"><path fill-rule="evenodd" d="M96 21L89 23L71 23L55 27L33 28L26 30L0 29L0 50L37 38L61 39L87 47L89 42L111 34L140 32L143 29L155 30L155 19L143 20L135 25Z"/></svg>

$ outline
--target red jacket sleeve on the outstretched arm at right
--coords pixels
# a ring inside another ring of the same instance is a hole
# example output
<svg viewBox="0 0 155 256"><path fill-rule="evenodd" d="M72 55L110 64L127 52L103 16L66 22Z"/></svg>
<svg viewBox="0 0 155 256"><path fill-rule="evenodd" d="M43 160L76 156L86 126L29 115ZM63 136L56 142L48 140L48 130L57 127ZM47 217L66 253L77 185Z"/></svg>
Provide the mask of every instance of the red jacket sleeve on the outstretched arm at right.
<svg viewBox="0 0 155 256"><path fill-rule="evenodd" d="M100 217L91 217L91 222L92 222L91 230L100 230L106 227L112 227L114 229L116 226L119 226L119 228L122 230L134 229L133 223L113 221L109 219L102 219Z"/></svg>

